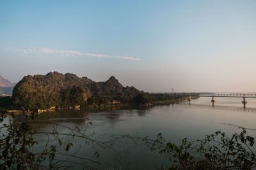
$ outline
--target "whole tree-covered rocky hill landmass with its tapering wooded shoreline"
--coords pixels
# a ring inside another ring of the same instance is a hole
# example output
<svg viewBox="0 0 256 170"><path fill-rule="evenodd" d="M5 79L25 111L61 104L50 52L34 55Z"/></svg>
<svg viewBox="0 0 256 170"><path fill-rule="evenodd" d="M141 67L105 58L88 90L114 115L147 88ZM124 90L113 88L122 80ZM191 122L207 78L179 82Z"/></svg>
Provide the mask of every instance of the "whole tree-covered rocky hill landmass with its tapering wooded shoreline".
<svg viewBox="0 0 256 170"><path fill-rule="evenodd" d="M24 76L13 89L12 102L13 108L37 111L111 104L151 106L168 104L184 99L184 96L186 94L148 94L135 87L124 87L114 76L104 82L95 82L75 74L51 72L45 76Z"/></svg>

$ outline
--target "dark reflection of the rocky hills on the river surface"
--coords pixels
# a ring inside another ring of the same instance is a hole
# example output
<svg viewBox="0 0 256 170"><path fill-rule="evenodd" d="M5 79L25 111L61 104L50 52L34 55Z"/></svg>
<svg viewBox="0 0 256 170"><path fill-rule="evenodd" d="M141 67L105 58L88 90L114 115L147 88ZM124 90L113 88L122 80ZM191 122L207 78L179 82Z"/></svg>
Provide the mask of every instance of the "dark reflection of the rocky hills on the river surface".
<svg viewBox="0 0 256 170"><path fill-rule="evenodd" d="M126 121L127 117L146 117L148 110L152 108L125 108L122 110L61 110L56 112L35 113L33 120L29 122L51 122L55 124L76 124L83 125L90 117L94 122L108 122L112 126L118 122ZM15 115L13 122L24 122L31 115L20 113ZM47 126L40 124L40 127Z"/></svg>

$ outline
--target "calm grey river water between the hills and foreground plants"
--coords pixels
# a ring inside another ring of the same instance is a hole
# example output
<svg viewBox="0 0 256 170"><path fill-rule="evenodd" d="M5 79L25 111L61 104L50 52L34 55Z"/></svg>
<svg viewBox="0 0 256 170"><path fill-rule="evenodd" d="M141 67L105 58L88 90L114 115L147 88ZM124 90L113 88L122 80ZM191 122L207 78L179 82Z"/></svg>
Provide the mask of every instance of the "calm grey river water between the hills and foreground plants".
<svg viewBox="0 0 256 170"><path fill-rule="evenodd" d="M155 139L159 132L163 136L179 144L183 138L189 140L204 138L205 134L212 134L215 131L223 131L227 134L239 132L239 126L247 129L248 134L256 137L256 99L247 99L248 104L243 108L241 98L221 98L216 97L215 106L212 106L210 97L200 97L191 101L183 101L179 104L170 104L168 106L155 106L146 109L126 109L113 111L61 111L57 113L43 113L36 117L36 121L47 121L66 125L68 127L81 127L86 118L92 120L92 127L88 127L86 134L94 133L91 138L101 141L108 141L111 135L130 136L149 136ZM22 115L17 115L15 121L20 121ZM51 132L52 125L34 124L35 127L42 132ZM68 133L65 128L58 127L59 132ZM70 154L76 153L78 157L87 157L93 159L93 151L90 149L83 139L72 139L62 137L63 142L71 141L74 146L70 150ZM36 136L39 145L35 150L40 150L47 141L56 144L56 141L50 137L40 134ZM151 152L145 145L138 143L134 147L134 143L129 140L122 139L117 141L113 146L116 150L124 150L129 148L129 153L122 154L122 160L118 162L117 167L122 169L149 169L154 166L161 165L162 162L168 164L168 160L164 159L164 155L157 152ZM60 147L63 151L63 147ZM101 160L113 164L115 157L113 152L102 151L99 148ZM79 162L77 159L61 157L58 159L70 162ZM84 162L87 163L87 162ZM68 163L67 163L68 164ZM97 167L95 164L91 164ZM79 167L78 164L74 167ZM108 167L108 166L103 166Z"/></svg>

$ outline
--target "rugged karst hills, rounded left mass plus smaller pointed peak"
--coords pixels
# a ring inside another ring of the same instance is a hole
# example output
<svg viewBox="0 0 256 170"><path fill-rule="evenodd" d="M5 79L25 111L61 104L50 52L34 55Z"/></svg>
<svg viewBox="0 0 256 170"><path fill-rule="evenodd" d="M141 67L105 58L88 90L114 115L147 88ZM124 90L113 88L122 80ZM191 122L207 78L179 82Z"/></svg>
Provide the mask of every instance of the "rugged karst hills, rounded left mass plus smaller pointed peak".
<svg viewBox="0 0 256 170"><path fill-rule="evenodd" d="M76 74L50 72L44 75L24 76L13 89L13 104L22 109L49 109L86 104L91 96L136 96L140 91L123 87L111 76L104 82L95 82Z"/></svg>

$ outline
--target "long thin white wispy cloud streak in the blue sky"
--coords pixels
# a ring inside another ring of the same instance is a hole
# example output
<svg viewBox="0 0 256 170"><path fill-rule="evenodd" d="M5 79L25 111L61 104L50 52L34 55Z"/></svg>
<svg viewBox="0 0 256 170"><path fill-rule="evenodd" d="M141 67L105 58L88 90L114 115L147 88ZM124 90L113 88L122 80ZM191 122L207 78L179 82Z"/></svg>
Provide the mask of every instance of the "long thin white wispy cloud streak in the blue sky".
<svg viewBox="0 0 256 170"><path fill-rule="evenodd" d="M77 51L68 51L68 50L52 50L50 48L1 48L1 50L10 51L10 52L22 52L25 54L29 53L47 53L47 54L55 54L62 56L92 56L97 58L114 58L114 59L126 59L126 60L141 60L139 58L134 57L125 57L125 56L115 56L115 55L105 55L105 54L96 54L96 53L83 53Z"/></svg>

